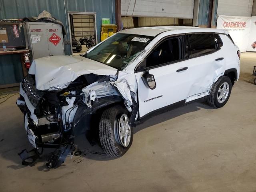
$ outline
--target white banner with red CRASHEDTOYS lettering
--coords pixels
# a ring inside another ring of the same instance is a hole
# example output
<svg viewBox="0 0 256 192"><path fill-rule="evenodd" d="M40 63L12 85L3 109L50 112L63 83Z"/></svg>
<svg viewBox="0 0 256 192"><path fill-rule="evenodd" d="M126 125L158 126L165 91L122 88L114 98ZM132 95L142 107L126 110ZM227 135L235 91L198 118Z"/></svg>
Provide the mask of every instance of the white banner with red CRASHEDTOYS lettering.
<svg viewBox="0 0 256 192"><path fill-rule="evenodd" d="M240 51L246 52L250 36L251 17L218 15L216 28L227 30Z"/></svg>

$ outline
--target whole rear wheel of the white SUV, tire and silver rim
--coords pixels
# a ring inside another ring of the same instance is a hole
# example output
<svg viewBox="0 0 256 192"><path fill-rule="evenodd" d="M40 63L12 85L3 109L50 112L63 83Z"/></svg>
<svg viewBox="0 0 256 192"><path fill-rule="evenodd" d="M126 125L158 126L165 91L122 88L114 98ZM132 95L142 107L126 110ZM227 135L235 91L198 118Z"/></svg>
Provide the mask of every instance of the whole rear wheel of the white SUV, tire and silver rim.
<svg viewBox="0 0 256 192"><path fill-rule="evenodd" d="M212 86L208 104L215 108L223 107L230 97L232 90L232 83L229 77L221 76L216 83Z"/></svg>

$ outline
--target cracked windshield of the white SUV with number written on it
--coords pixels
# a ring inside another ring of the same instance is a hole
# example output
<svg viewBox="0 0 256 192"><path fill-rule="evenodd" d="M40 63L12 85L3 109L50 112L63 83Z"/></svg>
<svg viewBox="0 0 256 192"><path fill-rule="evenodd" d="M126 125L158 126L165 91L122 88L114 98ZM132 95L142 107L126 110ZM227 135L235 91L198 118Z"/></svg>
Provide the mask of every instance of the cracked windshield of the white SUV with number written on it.
<svg viewBox="0 0 256 192"><path fill-rule="evenodd" d="M123 70L154 37L118 33L85 54L86 58Z"/></svg>

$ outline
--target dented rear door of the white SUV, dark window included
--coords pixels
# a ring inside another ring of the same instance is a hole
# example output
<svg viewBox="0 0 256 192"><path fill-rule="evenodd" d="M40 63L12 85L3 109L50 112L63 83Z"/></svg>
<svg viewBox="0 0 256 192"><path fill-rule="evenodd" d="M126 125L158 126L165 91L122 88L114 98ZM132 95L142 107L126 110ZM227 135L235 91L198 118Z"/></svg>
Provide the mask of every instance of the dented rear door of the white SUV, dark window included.
<svg viewBox="0 0 256 192"><path fill-rule="evenodd" d="M186 78L190 80L186 102L201 98L209 94L214 80L224 69L224 53L218 34L194 33L184 36L185 54L190 73Z"/></svg>

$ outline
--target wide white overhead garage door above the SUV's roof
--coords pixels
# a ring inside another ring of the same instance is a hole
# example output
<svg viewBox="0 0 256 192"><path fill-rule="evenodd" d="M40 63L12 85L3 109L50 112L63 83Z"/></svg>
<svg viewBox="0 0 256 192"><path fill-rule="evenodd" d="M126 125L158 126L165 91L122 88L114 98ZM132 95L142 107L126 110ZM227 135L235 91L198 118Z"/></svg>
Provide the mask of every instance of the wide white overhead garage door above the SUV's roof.
<svg viewBox="0 0 256 192"><path fill-rule="evenodd" d="M134 7L134 3L135 7ZM193 18L194 0L121 0L122 16ZM127 11L128 10L128 11Z"/></svg>

